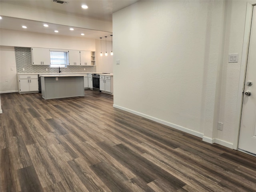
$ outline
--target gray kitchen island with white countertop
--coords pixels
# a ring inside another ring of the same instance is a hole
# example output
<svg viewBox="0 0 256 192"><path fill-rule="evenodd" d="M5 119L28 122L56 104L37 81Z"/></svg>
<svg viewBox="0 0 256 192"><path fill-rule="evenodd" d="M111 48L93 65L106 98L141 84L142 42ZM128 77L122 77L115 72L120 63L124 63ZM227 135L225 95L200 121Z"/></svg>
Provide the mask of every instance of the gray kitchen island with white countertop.
<svg viewBox="0 0 256 192"><path fill-rule="evenodd" d="M84 96L84 75L48 74L41 76L42 98L58 99Z"/></svg>

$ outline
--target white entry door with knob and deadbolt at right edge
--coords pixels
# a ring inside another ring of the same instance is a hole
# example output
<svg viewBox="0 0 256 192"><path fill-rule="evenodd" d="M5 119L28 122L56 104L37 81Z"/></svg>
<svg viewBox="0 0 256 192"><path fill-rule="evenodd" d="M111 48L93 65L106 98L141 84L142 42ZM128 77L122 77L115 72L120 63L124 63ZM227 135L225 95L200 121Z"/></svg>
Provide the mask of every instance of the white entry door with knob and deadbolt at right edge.
<svg viewBox="0 0 256 192"><path fill-rule="evenodd" d="M256 154L256 6L252 14L238 148Z"/></svg>

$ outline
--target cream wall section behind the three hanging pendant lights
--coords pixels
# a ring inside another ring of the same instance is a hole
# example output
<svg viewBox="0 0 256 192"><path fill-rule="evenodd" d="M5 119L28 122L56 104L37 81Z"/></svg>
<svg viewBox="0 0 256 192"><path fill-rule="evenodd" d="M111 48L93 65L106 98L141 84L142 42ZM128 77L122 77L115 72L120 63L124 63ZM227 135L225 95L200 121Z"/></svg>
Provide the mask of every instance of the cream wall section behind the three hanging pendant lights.
<svg viewBox="0 0 256 192"><path fill-rule="evenodd" d="M110 37L108 37L110 39ZM96 44L96 63L97 63L97 72L102 73L113 73L113 56L110 55L111 52L111 41L107 40L107 52L108 56L105 56L106 44L105 38L102 38L102 54L100 56L100 40L95 40Z"/></svg>

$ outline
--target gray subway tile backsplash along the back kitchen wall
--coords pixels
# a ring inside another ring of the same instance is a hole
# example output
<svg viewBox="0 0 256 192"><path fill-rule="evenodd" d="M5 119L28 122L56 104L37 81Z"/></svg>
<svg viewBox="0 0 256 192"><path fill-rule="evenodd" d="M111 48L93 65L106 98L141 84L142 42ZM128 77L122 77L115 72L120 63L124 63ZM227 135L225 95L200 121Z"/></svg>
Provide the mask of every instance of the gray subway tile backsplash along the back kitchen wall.
<svg viewBox="0 0 256 192"><path fill-rule="evenodd" d="M32 65L31 50L29 47L14 47L17 73L58 73L59 68L50 68L48 65ZM25 69L25 71L22 70ZM46 68L48 71L46 71ZM84 70L85 68L85 70ZM96 72L96 66L67 66L61 68L63 73L68 72Z"/></svg>

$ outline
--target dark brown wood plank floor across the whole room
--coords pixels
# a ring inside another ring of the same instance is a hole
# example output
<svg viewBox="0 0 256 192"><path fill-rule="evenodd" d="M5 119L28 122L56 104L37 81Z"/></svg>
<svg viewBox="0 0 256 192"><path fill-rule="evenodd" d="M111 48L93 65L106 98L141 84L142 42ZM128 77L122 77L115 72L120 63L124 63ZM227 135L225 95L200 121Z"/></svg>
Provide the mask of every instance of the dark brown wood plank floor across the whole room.
<svg viewBox="0 0 256 192"><path fill-rule="evenodd" d="M112 107L1 94L1 192L255 192L256 157Z"/></svg>

